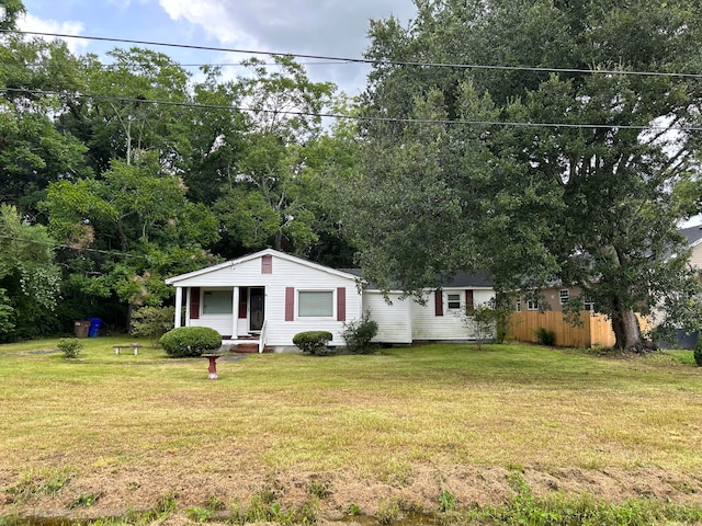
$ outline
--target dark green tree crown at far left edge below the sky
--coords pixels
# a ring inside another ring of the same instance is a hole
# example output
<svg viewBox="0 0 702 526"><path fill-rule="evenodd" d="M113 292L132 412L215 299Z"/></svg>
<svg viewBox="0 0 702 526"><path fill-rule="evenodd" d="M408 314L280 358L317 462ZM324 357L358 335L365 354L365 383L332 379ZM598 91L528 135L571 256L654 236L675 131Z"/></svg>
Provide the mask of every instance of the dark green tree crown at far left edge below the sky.
<svg viewBox="0 0 702 526"><path fill-rule="evenodd" d="M60 42L0 38L0 202L34 217L50 182L90 174L86 146L55 126L79 61Z"/></svg>

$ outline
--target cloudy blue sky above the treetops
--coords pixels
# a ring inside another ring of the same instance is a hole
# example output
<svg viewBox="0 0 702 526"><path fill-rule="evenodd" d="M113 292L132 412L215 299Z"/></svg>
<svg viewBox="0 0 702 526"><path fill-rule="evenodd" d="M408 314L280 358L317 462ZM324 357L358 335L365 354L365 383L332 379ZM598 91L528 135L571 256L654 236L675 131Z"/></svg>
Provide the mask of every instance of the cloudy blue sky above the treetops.
<svg viewBox="0 0 702 526"><path fill-rule="evenodd" d="M186 45L361 57L370 19L414 16L411 0L24 0L20 28ZM104 54L128 44L70 39L77 54ZM180 64L230 64L246 55L155 48ZM367 69L306 64L315 81L359 94Z"/></svg>

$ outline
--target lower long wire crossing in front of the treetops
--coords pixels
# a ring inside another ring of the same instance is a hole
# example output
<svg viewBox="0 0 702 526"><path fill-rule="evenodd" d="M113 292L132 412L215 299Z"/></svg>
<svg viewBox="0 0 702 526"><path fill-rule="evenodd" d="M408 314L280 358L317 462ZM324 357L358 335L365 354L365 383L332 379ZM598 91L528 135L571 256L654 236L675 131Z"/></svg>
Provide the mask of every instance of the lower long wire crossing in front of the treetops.
<svg viewBox="0 0 702 526"><path fill-rule="evenodd" d="M317 112L303 112L294 110L267 110L254 108L246 106L228 106L222 104L200 104L194 102L176 102L176 101L158 101L149 99L137 99L129 96L112 96L101 94L88 94L88 93L69 93L61 91L44 91L44 90L30 90L24 88L0 88L0 92L13 92L13 93L26 93L34 95L55 95L67 96L77 99L92 99L98 101L111 101L111 102L127 102L133 104L154 104L165 106L177 107L194 107L203 110L223 110L235 111L245 113L269 113L276 115L291 115L291 116L305 116L305 117L322 117L322 118L339 118L339 119L354 119L363 122L378 122L378 123L395 123L395 124L442 124L442 125L460 125L460 126L514 126L514 127L530 127L530 128L584 128L584 129L637 129L637 130L655 130L655 132L702 132L702 126L636 126L636 125L619 125L619 124L571 124L571 123L525 123L514 121L463 121L463 119L448 119L448 118L408 118L408 117L375 117L364 115L344 115L339 113L317 113Z"/></svg>

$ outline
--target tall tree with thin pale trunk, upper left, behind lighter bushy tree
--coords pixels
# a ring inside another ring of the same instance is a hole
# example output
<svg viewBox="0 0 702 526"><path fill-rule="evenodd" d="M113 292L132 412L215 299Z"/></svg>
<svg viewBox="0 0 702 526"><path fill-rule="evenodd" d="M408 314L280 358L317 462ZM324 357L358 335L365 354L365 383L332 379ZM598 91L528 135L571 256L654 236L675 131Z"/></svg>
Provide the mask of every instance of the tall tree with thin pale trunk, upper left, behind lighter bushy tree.
<svg viewBox="0 0 702 526"><path fill-rule="evenodd" d="M95 55L80 61L88 96L66 101L59 129L88 147L97 174L114 159L133 163L145 152L181 173L190 152L190 73L167 55L133 47L115 48L104 64Z"/></svg>

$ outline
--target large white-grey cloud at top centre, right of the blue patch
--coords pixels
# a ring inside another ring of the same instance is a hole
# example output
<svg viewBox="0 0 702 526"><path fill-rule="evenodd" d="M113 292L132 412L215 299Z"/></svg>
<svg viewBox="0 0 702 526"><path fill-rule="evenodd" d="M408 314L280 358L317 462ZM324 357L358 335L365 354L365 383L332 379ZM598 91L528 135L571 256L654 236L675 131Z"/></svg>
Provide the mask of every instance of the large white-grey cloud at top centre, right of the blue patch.
<svg viewBox="0 0 702 526"><path fill-rule="evenodd" d="M365 50L370 19L395 14L405 22L416 13L412 2L398 7L397 0L159 0L159 5L171 20L199 26L222 46L350 58ZM330 80L350 94L362 89L367 72L349 64L307 70L313 80Z"/></svg>

